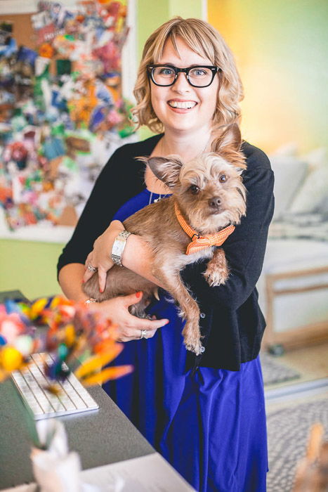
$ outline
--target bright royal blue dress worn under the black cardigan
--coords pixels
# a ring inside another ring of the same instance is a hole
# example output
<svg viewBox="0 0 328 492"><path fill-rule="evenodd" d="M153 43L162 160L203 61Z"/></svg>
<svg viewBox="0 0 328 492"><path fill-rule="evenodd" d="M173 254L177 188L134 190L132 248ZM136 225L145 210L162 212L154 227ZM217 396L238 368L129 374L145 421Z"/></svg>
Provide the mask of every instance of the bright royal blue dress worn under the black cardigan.
<svg viewBox="0 0 328 492"><path fill-rule="evenodd" d="M114 219L124 221L157 199L145 189ZM170 323L150 339L126 342L115 365L131 375L104 384L107 394L171 465L202 492L265 492L265 406L257 357L240 371L185 370L183 321L168 294L147 309Z"/></svg>

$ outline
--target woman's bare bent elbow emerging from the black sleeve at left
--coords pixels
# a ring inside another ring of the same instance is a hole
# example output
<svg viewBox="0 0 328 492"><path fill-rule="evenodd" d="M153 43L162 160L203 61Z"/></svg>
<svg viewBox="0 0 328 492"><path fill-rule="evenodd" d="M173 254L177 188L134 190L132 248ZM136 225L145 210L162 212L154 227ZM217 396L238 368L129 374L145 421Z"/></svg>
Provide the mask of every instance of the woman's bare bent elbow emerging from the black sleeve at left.
<svg viewBox="0 0 328 492"><path fill-rule="evenodd" d="M58 281L63 293L73 301L85 301L88 296L82 291L82 279L84 276L84 265L70 263L61 268Z"/></svg>

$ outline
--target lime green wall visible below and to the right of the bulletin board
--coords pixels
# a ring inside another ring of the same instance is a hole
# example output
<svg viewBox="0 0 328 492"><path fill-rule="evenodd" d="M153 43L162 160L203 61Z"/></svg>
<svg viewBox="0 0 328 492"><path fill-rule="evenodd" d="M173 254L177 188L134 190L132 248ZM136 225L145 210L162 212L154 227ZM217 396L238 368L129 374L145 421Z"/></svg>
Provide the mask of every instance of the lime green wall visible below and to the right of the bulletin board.
<svg viewBox="0 0 328 492"><path fill-rule="evenodd" d="M147 37L173 15L201 17L200 0L138 0L138 60ZM140 130L140 138L150 132ZM29 299L60 293L56 264L61 244L25 240L0 240L0 291L21 290Z"/></svg>

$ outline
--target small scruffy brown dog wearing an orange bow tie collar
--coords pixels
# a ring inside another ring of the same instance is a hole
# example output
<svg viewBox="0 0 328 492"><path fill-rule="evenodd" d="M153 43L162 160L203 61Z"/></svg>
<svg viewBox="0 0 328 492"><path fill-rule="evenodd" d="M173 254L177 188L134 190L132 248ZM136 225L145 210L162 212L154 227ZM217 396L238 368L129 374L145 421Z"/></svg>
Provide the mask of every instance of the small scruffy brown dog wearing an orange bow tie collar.
<svg viewBox="0 0 328 492"><path fill-rule="evenodd" d="M180 314L186 320L185 347L197 355L204 351L199 307L179 272L187 264L206 258L209 263L204 276L209 285L221 285L228 279L224 251L215 245L222 244L235 228L233 224L239 224L246 214L246 188L241 178L246 164L240 145L240 130L232 125L212 146L215 152L200 155L186 164L178 156L140 157L170 188L172 195L147 205L124 221L126 231L142 236L152 248L152 274L178 302ZM145 318L145 307L152 296L156 297L157 285L128 268L114 265L101 294L98 273L84 284L84 292L99 302L138 290L143 291L143 299L131 306L130 311Z"/></svg>

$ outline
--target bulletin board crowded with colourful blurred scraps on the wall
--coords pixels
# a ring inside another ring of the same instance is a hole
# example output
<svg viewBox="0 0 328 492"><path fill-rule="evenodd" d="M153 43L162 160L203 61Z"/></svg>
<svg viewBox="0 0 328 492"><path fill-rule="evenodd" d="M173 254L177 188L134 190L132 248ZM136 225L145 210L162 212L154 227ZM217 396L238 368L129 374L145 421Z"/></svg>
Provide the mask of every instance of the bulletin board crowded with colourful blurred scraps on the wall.
<svg viewBox="0 0 328 492"><path fill-rule="evenodd" d="M126 18L125 0L0 16L0 237L66 240L108 157L136 140Z"/></svg>

